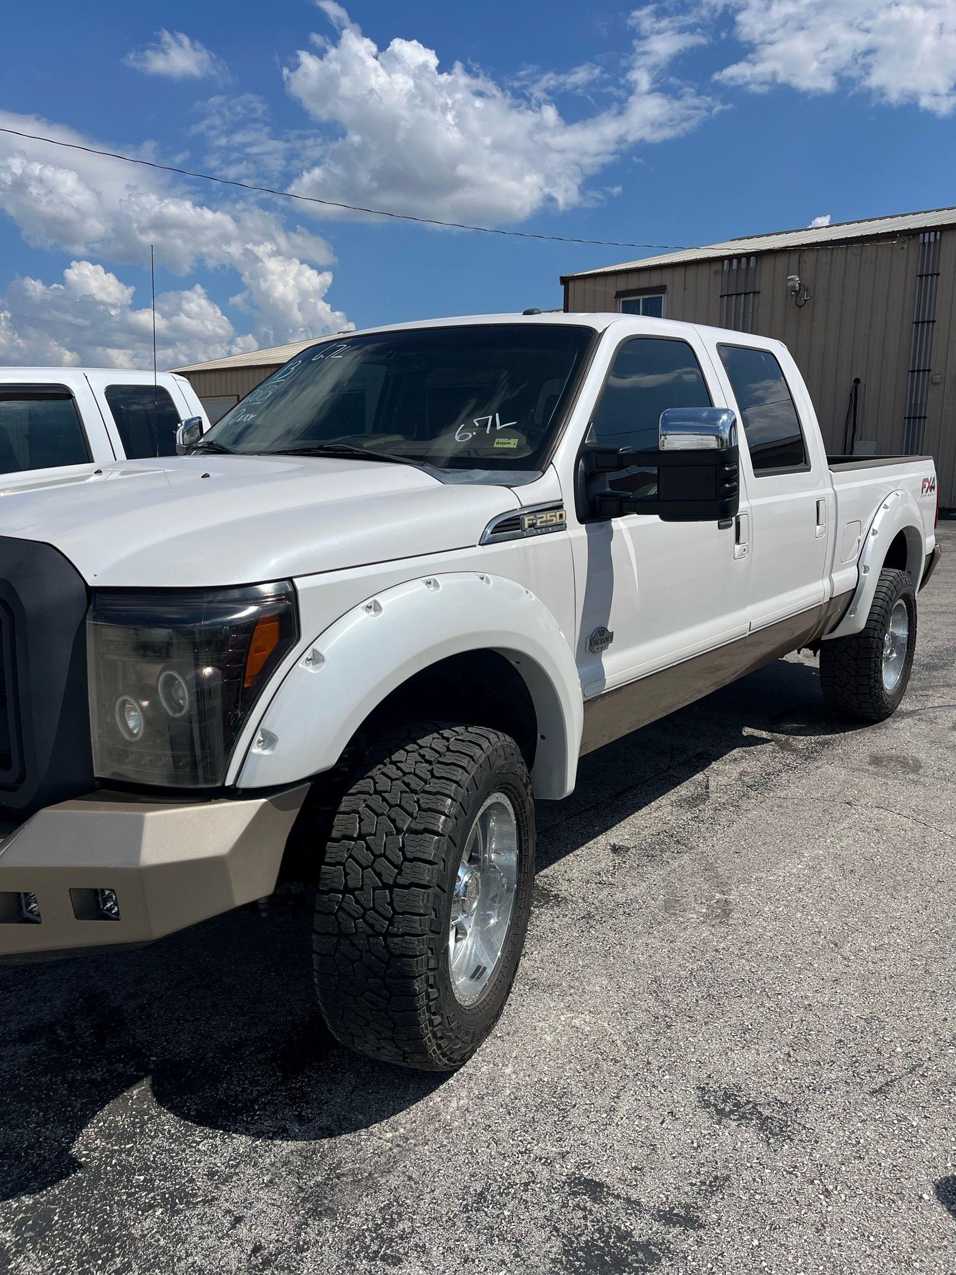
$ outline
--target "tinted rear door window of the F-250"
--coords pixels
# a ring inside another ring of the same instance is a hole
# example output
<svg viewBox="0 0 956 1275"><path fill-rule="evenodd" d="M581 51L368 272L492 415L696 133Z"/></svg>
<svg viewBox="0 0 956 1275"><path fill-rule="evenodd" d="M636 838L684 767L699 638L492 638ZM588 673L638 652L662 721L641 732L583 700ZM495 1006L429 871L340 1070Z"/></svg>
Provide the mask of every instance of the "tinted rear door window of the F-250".
<svg viewBox="0 0 956 1275"><path fill-rule="evenodd" d="M766 349L742 346L719 349L741 409L755 473L804 465L807 453L799 417L778 361Z"/></svg>

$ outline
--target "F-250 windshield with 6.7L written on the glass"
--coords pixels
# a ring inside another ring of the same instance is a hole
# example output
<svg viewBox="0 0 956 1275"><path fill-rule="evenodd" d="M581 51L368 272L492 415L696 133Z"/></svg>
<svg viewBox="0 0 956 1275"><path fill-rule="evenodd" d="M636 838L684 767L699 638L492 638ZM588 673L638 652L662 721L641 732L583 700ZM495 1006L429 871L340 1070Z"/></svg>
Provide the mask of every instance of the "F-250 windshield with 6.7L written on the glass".
<svg viewBox="0 0 956 1275"><path fill-rule="evenodd" d="M204 442L535 469L593 335L571 324L474 324L324 342L252 390Z"/></svg>

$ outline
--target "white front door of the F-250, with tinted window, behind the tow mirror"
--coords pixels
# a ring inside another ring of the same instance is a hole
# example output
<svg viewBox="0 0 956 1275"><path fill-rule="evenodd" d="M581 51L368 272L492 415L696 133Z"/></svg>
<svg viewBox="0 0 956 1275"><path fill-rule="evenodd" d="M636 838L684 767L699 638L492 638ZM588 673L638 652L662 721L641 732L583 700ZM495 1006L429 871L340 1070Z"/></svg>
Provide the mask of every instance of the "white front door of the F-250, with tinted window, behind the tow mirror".
<svg viewBox="0 0 956 1275"><path fill-rule="evenodd" d="M586 441L656 449L665 408L723 405L713 384L696 334L628 337L614 352ZM613 488L614 476L608 479ZM742 483L737 524L626 514L572 528L585 699L746 635L747 514Z"/></svg>

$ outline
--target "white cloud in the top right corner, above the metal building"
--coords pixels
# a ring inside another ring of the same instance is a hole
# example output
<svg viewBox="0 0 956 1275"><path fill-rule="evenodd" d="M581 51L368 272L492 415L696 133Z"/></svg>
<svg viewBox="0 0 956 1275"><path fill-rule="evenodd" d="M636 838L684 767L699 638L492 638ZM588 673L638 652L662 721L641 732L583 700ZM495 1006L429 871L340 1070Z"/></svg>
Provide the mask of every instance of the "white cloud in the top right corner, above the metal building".
<svg viewBox="0 0 956 1275"><path fill-rule="evenodd" d="M891 106L936 115L956 108L953 0L718 0L734 14L750 52L725 68L724 84L808 93L865 89Z"/></svg>

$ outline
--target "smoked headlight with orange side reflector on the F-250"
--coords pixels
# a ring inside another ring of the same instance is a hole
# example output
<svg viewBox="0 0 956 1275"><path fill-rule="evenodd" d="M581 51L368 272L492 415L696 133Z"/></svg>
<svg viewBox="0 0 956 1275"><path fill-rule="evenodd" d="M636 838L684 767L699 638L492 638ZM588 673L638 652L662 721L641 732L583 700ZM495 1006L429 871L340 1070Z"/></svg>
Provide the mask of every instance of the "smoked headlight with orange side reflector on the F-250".
<svg viewBox="0 0 956 1275"><path fill-rule="evenodd" d="M101 779L217 788L250 710L298 638L292 583L102 589L87 617Z"/></svg>

